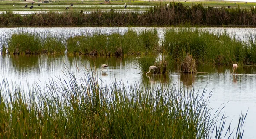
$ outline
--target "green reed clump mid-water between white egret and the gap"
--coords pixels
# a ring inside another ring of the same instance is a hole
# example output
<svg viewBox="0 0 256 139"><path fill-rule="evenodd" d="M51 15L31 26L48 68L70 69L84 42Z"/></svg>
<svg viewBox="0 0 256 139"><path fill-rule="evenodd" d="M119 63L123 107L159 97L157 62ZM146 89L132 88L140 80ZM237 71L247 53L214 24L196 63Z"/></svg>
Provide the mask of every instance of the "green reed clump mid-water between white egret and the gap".
<svg viewBox="0 0 256 139"><path fill-rule="evenodd" d="M68 54L85 55L140 55L157 53L159 50L157 31L143 30L136 32L82 32L67 39Z"/></svg>

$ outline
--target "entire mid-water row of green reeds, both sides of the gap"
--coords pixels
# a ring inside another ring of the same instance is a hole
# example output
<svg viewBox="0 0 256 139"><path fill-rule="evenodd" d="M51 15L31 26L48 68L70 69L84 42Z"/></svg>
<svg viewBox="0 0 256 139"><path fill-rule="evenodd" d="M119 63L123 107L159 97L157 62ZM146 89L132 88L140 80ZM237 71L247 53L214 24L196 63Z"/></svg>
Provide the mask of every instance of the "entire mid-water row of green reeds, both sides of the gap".
<svg viewBox="0 0 256 139"><path fill-rule="evenodd" d="M10 54L64 54L67 50L68 55L140 55L142 58L137 62L142 71L146 72L149 66L155 65L160 67L156 70L159 74L173 68L169 65L174 61L178 66L184 64L188 53L195 64L256 64L255 35L248 33L243 41L231 36L236 35L200 28L169 28L164 32L163 40L159 40L156 29L128 29L124 32L85 30L79 35L17 30L9 32L1 45ZM4 50L3 54L6 53ZM154 58L157 55L162 55L163 59ZM193 71L196 70L193 68Z"/></svg>

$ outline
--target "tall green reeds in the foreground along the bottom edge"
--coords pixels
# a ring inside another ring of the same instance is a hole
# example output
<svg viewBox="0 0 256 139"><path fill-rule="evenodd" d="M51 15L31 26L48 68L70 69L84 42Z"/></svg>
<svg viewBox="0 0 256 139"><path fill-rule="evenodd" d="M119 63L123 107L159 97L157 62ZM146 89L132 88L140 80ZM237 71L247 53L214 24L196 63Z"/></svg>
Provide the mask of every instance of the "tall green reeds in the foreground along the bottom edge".
<svg viewBox="0 0 256 139"><path fill-rule="evenodd" d="M208 106L206 90L119 82L100 86L92 75L67 73L68 79L27 90L1 81L0 137L242 139L246 115L241 114L237 129L225 125L221 108Z"/></svg>

